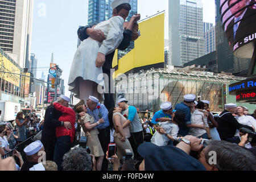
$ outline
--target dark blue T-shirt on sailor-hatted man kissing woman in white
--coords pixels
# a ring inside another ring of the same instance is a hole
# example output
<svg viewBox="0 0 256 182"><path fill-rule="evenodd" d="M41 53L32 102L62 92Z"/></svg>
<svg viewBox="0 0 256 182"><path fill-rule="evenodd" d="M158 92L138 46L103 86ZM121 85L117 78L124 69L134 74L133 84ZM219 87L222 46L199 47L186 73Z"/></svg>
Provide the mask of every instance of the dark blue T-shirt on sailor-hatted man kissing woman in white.
<svg viewBox="0 0 256 182"><path fill-rule="evenodd" d="M191 111L190 111L189 107L184 104L184 102L177 104L175 106L175 110L183 111L183 113L185 114L185 125L191 125ZM186 126L180 125L180 124L178 126L180 129L178 135L183 135L183 137L185 137L185 135L188 134L189 127L186 127Z"/></svg>

